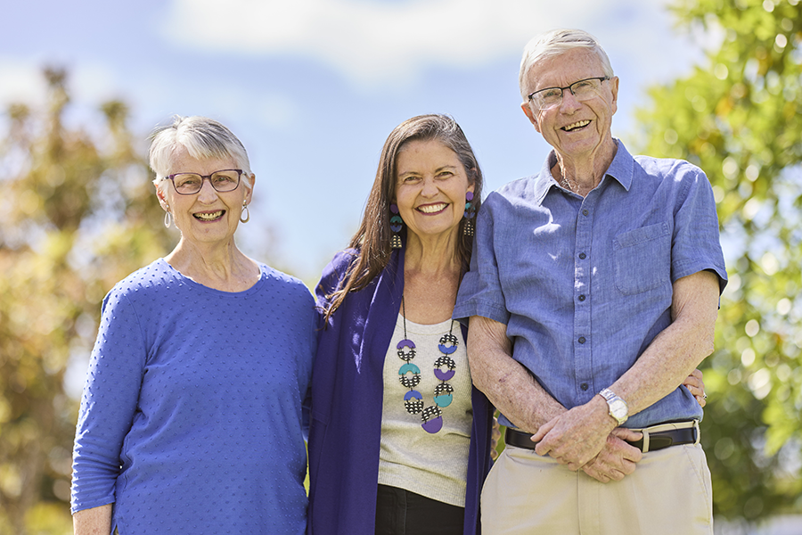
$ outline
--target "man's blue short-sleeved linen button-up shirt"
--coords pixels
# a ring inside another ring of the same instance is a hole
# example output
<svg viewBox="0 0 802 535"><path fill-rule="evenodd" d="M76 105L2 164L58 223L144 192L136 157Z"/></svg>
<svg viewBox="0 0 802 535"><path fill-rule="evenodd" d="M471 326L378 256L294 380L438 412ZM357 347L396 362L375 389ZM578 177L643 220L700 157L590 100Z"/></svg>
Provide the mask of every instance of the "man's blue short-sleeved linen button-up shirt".
<svg viewBox="0 0 802 535"><path fill-rule="evenodd" d="M512 358L567 408L618 380L671 323L677 279L708 269L720 290L726 284L704 172L687 161L633 157L617 143L585 198L557 185L554 152L538 175L488 195L454 308L463 322L482 316L507 325ZM626 427L701 417L679 386Z"/></svg>

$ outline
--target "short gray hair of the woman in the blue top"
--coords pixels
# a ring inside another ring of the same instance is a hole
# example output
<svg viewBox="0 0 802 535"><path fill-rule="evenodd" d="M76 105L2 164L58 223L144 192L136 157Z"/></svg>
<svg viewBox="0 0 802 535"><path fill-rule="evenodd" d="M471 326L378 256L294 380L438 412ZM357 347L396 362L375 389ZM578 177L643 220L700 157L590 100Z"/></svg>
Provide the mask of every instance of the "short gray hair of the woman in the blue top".
<svg viewBox="0 0 802 535"><path fill-rule="evenodd" d="M153 184L163 191L164 178L170 175L170 161L179 147L184 147L192 158L232 158L242 169L243 182L250 189L250 161L248 152L232 131L215 119L192 115L176 115L172 123L156 127L151 132L151 149L148 156L151 169L156 172Z"/></svg>

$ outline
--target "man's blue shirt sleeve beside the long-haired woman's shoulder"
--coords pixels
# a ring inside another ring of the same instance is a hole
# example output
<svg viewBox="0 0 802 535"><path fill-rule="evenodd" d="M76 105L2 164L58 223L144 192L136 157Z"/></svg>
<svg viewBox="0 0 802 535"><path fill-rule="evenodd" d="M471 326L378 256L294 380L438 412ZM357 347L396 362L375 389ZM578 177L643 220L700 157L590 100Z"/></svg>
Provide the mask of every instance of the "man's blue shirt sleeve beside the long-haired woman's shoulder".
<svg viewBox="0 0 802 535"><path fill-rule="evenodd" d="M471 316L487 317L504 325L510 320L494 246L495 215L505 205L503 197L494 192L479 209L471 269L462 277L454 306L454 319L464 325L468 325Z"/></svg>

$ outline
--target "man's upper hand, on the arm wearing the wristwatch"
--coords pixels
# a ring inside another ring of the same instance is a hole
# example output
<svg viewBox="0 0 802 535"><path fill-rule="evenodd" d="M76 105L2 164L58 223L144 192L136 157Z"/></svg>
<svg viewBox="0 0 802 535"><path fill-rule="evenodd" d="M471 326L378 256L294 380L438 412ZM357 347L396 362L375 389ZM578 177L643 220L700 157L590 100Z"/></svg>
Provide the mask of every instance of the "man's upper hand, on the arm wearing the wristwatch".
<svg viewBox="0 0 802 535"><path fill-rule="evenodd" d="M594 458L607 444L616 427L604 399L593 399L552 418L532 435L537 455L548 455L576 472Z"/></svg>

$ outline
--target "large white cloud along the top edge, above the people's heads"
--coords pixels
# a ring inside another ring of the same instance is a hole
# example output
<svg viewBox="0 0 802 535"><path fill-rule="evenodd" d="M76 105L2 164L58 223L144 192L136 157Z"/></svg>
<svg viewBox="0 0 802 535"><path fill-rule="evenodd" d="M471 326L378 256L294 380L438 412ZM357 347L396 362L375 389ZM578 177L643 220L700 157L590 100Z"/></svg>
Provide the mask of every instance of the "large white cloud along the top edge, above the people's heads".
<svg viewBox="0 0 802 535"><path fill-rule="evenodd" d="M622 13L638 20L634 12L658 3L618 0L611 10L591 0L175 0L163 30L186 47L299 55L374 84L430 65L468 67L517 54L546 29L613 29L626 22ZM648 28L633 26L627 29Z"/></svg>

